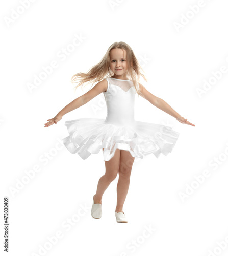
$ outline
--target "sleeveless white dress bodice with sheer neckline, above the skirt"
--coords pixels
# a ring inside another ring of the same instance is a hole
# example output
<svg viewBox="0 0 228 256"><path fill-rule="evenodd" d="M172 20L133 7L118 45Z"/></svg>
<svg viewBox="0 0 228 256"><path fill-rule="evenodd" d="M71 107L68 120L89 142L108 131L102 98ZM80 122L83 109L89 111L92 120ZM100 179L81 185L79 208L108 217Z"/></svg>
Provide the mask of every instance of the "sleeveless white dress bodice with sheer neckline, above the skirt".
<svg viewBox="0 0 228 256"><path fill-rule="evenodd" d="M132 125L135 121L136 89L131 80L106 78L107 91L103 92L107 105L105 123L117 126Z"/></svg>

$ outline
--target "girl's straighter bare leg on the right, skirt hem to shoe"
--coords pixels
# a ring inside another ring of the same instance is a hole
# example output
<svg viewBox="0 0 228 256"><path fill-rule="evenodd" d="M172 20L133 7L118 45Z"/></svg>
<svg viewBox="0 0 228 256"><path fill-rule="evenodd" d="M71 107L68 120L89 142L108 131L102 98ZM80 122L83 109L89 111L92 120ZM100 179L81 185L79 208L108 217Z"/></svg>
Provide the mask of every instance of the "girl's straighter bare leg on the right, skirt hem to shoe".
<svg viewBox="0 0 228 256"><path fill-rule="evenodd" d="M119 180L117 183L117 205L115 209L116 212L123 212L123 204L125 202L126 195L128 194L134 160L135 158L132 157L129 151L120 151Z"/></svg>

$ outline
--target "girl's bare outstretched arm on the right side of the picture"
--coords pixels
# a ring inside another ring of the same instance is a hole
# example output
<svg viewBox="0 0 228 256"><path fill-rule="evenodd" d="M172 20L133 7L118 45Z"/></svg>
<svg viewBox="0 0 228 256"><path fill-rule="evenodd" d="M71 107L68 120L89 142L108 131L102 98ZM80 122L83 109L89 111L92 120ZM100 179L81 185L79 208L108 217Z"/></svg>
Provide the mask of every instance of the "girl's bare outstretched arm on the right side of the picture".
<svg viewBox="0 0 228 256"><path fill-rule="evenodd" d="M166 103L163 99L148 92L141 83L139 83L139 87L142 93L142 97L148 100L151 104L153 104L160 110L166 112L167 114L175 117L176 120L178 120L179 122L195 126L195 124L190 123L189 121L187 121L187 119L185 119L180 114L178 114L178 112L172 109L171 106L168 103Z"/></svg>

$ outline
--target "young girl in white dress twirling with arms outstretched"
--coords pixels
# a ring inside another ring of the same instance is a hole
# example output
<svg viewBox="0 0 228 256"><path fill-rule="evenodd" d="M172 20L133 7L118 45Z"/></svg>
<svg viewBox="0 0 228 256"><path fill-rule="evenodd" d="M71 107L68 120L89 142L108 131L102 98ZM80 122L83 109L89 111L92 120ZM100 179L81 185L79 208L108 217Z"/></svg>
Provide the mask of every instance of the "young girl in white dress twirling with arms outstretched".
<svg viewBox="0 0 228 256"><path fill-rule="evenodd" d="M142 159L151 153L157 158L161 153L167 156L179 137L179 133L169 126L134 120L136 93L179 122L195 126L138 82L140 75L146 80L140 69L132 48L125 42L114 42L97 65L87 73L77 73L72 77L72 82L81 80L78 86L92 80L93 83L99 82L87 93L66 105L54 118L48 119L44 126L57 124L66 113L86 104L100 93L104 94L106 119L80 118L66 121L69 136L63 139L68 151L72 154L78 153L82 159L99 153L101 148L103 150L106 170L99 179L96 194L93 196L93 218L102 217L102 196L119 174L115 216L117 222L128 222L123 212L123 204L135 158Z"/></svg>

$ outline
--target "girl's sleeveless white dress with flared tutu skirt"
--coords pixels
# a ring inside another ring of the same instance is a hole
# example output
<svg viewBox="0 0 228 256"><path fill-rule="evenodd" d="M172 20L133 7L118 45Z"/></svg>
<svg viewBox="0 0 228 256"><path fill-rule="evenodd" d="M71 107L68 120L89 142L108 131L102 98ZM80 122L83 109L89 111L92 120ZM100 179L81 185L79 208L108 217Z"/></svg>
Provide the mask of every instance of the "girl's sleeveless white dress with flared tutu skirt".
<svg viewBox="0 0 228 256"><path fill-rule="evenodd" d="M103 92L107 105L106 119L79 118L66 121L69 136L63 139L67 150L78 153L82 159L97 154L104 148L103 156L109 161L116 148L129 151L135 158L153 153L157 158L167 156L179 137L171 127L135 121L136 89L133 82L106 78L108 88Z"/></svg>

